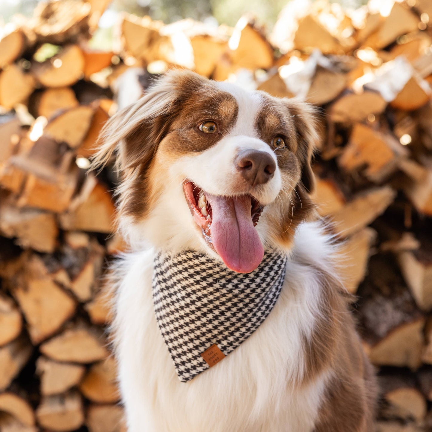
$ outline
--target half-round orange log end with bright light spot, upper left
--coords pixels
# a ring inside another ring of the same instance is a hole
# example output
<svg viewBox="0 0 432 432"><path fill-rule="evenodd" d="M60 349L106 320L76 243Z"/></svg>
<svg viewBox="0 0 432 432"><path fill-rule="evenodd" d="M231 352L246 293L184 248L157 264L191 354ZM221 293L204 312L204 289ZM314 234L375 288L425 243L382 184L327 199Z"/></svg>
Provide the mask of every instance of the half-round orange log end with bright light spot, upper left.
<svg viewBox="0 0 432 432"><path fill-rule="evenodd" d="M83 52L77 45L66 46L50 60L34 63L31 71L42 86L72 86L83 76Z"/></svg>

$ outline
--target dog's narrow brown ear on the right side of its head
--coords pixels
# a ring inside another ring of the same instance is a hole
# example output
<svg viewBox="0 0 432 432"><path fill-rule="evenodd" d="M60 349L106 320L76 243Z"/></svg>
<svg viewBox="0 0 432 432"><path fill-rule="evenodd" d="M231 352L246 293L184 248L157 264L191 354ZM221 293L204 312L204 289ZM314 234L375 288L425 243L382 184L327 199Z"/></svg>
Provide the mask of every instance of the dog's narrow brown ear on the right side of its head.
<svg viewBox="0 0 432 432"><path fill-rule="evenodd" d="M300 180L306 192L312 194L315 190L315 177L311 168L311 159L319 139L316 128L316 110L296 98L286 99L286 105L289 110L289 119L293 122L297 135L297 155L302 168Z"/></svg>

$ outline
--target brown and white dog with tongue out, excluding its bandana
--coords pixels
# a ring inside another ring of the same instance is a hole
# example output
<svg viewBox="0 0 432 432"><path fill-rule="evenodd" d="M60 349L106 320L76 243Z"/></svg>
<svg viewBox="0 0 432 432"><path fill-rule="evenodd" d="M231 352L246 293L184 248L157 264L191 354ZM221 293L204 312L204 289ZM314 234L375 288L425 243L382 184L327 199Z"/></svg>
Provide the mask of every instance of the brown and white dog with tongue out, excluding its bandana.
<svg viewBox="0 0 432 432"><path fill-rule="evenodd" d="M372 367L309 196L316 140L307 104L181 70L106 124L94 166L117 154L118 224L132 245L114 268L113 325L130 432L373 430ZM263 247L289 254L275 307L180 382L153 311L155 251L200 251L247 273Z"/></svg>

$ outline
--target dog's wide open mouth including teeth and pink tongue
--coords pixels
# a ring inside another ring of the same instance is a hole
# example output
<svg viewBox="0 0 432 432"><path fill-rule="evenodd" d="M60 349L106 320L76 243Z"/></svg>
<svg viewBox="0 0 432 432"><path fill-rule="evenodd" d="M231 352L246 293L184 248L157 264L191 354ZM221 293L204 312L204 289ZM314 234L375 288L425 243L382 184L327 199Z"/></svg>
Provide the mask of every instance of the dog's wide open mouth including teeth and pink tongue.
<svg viewBox="0 0 432 432"><path fill-rule="evenodd" d="M264 248L255 226L262 206L251 195L225 197L203 191L186 181L184 195L204 239L238 273L255 270L264 256Z"/></svg>

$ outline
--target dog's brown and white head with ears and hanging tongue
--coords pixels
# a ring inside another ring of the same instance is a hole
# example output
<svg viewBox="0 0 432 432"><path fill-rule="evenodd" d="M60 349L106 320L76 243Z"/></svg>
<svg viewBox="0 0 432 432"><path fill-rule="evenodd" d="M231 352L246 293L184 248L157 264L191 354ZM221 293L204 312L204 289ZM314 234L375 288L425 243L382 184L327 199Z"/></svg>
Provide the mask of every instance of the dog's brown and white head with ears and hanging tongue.
<svg viewBox="0 0 432 432"><path fill-rule="evenodd" d="M247 273L311 211L316 140L303 102L173 70L108 121L94 166L117 154L124 235Z"/></svg>

